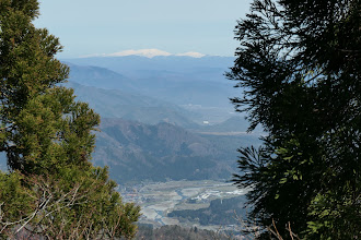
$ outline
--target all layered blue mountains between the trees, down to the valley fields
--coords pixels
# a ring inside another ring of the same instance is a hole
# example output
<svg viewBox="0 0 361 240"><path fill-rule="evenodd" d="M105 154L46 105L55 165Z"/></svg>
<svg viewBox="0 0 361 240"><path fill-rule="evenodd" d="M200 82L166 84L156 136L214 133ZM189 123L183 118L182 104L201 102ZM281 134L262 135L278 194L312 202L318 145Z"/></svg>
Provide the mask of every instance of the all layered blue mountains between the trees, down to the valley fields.
<svg viewBox="0 0 361 240"><path fill-rule="evenodd" d="M108 165L118 182L229 179L236 148L258 143L255 135L223 134L248 127L229 103L237 93L223 74L233 58L164 53L65 62L71 68L66 85L102 116L94 163Z"/></svg>

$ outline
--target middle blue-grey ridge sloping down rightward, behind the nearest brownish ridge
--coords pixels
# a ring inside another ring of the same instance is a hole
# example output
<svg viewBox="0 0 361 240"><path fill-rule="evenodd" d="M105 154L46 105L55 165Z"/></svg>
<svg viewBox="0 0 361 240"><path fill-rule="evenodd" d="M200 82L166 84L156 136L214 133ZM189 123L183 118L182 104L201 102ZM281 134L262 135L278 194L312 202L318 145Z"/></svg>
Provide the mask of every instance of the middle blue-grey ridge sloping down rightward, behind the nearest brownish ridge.
<svg viewBox="0 0 361 240"><path fill-rule="evenodd" d="M65 84L74 89L79 100L89 103L104 118L124 118L149 124L170 122L185 128L197 128L188 117L196 116L174 104L118 89L102 89L74 82Z"/></svg>

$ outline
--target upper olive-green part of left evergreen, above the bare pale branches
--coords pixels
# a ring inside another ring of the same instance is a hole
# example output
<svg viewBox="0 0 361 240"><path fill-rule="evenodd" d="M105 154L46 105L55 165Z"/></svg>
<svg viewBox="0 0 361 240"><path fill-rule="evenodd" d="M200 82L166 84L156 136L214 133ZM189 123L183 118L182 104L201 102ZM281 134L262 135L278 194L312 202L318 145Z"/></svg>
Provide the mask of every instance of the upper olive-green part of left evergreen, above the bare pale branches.
<svg viewBox="0 0 361 240"><path fill-rule="evenodd" d="M31 23L37 1L1 4L0 149L9 167L51 173L60 166L83 165L81 156L88 158L93 149L90 131L98 116L86 104L74 103L71 89L56 86L69 70L54 58L59 40Z"/></svg>

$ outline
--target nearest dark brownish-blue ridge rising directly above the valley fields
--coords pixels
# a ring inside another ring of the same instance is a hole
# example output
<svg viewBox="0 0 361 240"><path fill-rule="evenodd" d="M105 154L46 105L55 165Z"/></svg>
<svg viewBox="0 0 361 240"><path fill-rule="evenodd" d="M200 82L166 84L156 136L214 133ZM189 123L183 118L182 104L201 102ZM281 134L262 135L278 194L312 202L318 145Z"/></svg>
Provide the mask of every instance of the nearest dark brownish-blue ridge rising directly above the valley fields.
<svg viewBox="0 0 361 240"><path fill-rule="evenodd" d="M108 165L120 182L230 178L234 171L217 146L170 123L147 125L120 119L103 119L97 133L94 163ZM232 160L233 163L233 160Z"/></svg>

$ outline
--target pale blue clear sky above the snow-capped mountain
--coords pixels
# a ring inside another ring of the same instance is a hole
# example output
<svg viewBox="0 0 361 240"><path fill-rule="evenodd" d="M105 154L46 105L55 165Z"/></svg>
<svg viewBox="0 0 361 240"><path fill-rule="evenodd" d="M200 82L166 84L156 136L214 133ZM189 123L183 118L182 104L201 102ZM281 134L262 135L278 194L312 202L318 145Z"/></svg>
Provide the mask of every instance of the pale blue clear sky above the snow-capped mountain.
<svg viewBox="0 0 361 240"><path fill-rule="evenodd" d="M59 58L138 49L233 56L251 0L40 0L37 27L65 46Z"/></svg>

